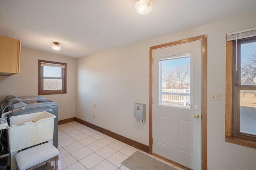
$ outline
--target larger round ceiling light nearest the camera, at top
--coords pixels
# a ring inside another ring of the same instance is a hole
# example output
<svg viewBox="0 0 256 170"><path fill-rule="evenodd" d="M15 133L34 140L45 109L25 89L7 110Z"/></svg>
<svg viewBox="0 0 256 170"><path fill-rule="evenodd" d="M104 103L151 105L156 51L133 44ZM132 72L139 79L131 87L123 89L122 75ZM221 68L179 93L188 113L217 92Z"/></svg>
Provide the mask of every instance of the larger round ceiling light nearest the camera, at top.
<svg viewBox="0 0 256 170"><path fill-rule="evenodd" d="M135 4L135 10L140 15L146 15L150 13L153 8L153 4L150 0L138 0Z"/></svg>

